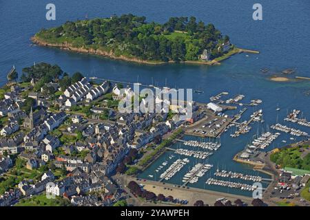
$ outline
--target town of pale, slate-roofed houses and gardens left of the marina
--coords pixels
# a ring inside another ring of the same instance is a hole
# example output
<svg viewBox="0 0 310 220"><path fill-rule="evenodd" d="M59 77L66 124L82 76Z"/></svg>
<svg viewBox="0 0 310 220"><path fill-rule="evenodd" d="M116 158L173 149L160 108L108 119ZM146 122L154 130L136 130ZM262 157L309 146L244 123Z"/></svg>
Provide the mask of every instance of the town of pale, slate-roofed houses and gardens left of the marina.
<svg viewBox="0 0 310 220"><path fill-rule="evenodd" d="M123 201L125 191L110 176L125 169L123 162L134 164L137 149L183 126L171 111L118 113L120 84L70 77L46 63L24 68L21 83L16 74L13 67L1 89L0 206L44 191L76 206ZM133 96L130 87L125 91Z"/></svg>

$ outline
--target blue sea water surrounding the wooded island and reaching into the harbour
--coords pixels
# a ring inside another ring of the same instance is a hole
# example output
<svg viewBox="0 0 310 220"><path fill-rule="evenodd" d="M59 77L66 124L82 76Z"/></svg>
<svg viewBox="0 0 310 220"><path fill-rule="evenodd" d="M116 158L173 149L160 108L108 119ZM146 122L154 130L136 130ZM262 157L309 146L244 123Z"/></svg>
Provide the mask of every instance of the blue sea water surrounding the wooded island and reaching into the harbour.
<svg viewBox="0 0 310 220"><path fill-rule="evenodd" d="M55 63L70 74L79 71L87 76L97 76L113 80L154 83L178 88L192 88L205 91L194 94L194 100L208 102L209 96L220 91L228 91L230 98L236 94L245 94L245 102L260 98L263 100L260 108L264 111L265 124L282 122L291 109L300 109L304 117L310 119L309 81L276 83L268 78L281 75L283 69L294 68L293 76L310 77L310 15L309 1L291 0L260 0L263 10L263 20L252 19L252 6L256 1L185 1L185 0L90 0L90 1L53 1L56 5L56 21L45 19L45 5L50 1L0 1L0 76L1 84L5 83L6 74L15 65L19 74L21 69L34 62ZM139 65L123 61L113 61L108 58L87 54L75 54L58 49L32 46L30 37L41 28L50 28L65 21L84 19L85 14L95 17L110 17L112 14L132 13L147 17L148 21L165 22L169 17L195 16L205 23L214 23L223 34L228 34L231 42L238 47L260 51L260 54L238 54L224 61L220 66L204 65ZM269 68L268 73L260 72ZM290 77L293 77L290 76ZM279 105L281 111L276 111ZM258 108L249 108L243 119ZM310 133L304 126L296 126ZM222 147L210 157L215 166L249 173L247 166L231 162L232 157L244 148L245 144L257 132L258 124L253 129L238 138L229 137L229 132L223 135ZM259 128L260 130L260 128ZM289 135L282 134L272 147L282 146L282 140L287 143ZM194 138L194 137L192 137ZM164 155L161 160L164 160ZM158 162L159 163L159 162ZM154 165L156 166L156 164ZM148 172L143 173L147 177ZM173 180L172 180L173 181ZM174 182L176 184L176 182ZM195 185L203 188L203 181ZM212 188L226 192L227 188ZM234 193L240 193L235 192Z"/></svg>

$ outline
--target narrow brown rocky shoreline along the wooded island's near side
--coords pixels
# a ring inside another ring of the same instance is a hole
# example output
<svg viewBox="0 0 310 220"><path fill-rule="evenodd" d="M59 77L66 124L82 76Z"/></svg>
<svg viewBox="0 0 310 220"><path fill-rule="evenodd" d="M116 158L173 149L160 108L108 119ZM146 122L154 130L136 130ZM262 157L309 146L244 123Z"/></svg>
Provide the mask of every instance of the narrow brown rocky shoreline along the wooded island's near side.
<svg viewBox="0 0 310 220"><path fill-rule="evenodd" d="M79 48L79 47L73 47L72 45L70 45L70 43L48 43L47 41L44 41L42 39L39 39L37 36L32 36L30 38L30 40L32 41L32 43L39 45L39 46L43 46L43 47L57 47L60 50L68 50L68 51L72 51L72 52L78 52L78 53L83 53L83 54L93 54L93 55L99 55L99 56L105 56L107 58L112 58L114 60L119 60L119 61L127 61L127 62L132 62L132 63L140 63L140 64L147 64L147 65L164 65L167 63L176 63L175 61L168 61L168 62L163 62L163 61L145 61L145 60L141 60L138 58L130 58L127 56L116 56L112 51L107 52L104 50L94 50L94 49L87 49L87 48ZM185 63L185 64L201 64L201 65L220 65L221 61L225 61L227 58L230 58L231 56L233 56L234 54L240 54L240 53L252 53L252 54L259 54L260 52L256 51L256 50L245 50L245 49L241 49L236 47L233 51L231 51L230 54L225 54L223 56L220 56L218 58L215 58L212 61L208 61L208 62L203 62L203 61L183 61L180 63Z"/></svg>

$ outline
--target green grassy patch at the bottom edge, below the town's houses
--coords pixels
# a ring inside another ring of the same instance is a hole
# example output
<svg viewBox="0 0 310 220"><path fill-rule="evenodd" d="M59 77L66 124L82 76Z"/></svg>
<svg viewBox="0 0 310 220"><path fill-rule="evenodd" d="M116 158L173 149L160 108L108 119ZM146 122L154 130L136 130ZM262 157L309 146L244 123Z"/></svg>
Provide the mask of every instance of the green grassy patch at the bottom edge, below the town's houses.
<svg viewBox="0 0 310 220"><path fill-rule="evenodd" d="M15 206L70 206L68 199L56 197L56 199L48 199L43 193L35 195L28 199L21 199Z"/></svg>

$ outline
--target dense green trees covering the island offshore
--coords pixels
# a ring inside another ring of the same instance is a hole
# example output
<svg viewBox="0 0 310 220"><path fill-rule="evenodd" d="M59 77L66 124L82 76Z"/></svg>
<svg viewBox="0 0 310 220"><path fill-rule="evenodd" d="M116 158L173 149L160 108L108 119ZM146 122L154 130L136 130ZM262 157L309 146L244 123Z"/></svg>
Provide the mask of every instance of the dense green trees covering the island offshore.
<svg viewBox="0 0 310 220"><path fill-rule="evenodd" d="M205 49L216 58L223 55L221 45L229 42L229 36L223 36L213 24L197 22L195 17L172 17L160 24L132 14L67 21L41 30L36 37L48 43L113 52L114 56L165 62L197 61Z"/></svg>

